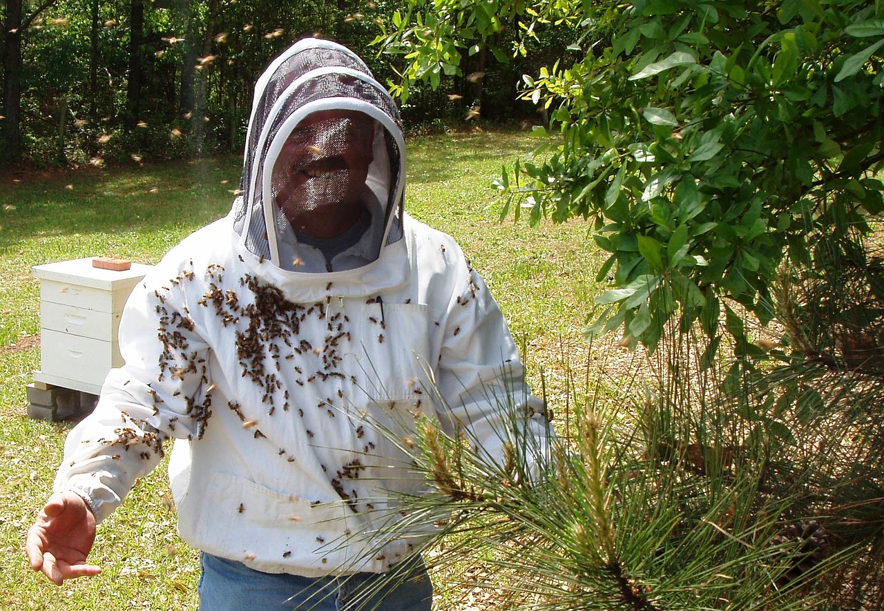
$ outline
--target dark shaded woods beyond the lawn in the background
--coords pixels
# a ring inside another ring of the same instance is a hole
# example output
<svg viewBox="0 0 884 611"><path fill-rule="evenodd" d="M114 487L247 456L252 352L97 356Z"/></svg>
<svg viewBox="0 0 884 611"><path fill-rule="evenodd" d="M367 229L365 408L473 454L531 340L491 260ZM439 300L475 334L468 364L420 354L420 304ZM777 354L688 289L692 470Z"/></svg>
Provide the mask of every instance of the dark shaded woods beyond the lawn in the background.
<svg viewBox="0 0 884 611"><path fill-rule="evenodd" d="M119 163L239 150L254 81L292 42L319 35L359 53L393 84L407 62L371 46L392 2L312 0L9 0L0 7L4 49L0 164ZM541 28L544 29L544 28ZM414 86L402 104L408 129L464 121L540 122L516 101L523 73L567 53L546 28L530 57L510 57L518 32L464 57L460 75ZM387 49L387 50L385 50Z"/></svg>

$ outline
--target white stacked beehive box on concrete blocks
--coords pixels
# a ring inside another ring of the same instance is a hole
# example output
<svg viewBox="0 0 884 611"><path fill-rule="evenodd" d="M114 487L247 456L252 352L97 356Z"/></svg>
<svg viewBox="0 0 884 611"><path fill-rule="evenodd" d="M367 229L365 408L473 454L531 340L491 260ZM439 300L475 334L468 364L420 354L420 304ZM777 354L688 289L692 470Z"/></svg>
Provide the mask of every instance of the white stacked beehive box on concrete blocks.
<svg viewBox="0 0 884 611"><path fill-rule="evenodd" d="M98 394L108 371L123 364L119 318L132 289L150 269L140 263L126 271L99 269L92 257L36 265L41 351L34 380Z"/></svg>

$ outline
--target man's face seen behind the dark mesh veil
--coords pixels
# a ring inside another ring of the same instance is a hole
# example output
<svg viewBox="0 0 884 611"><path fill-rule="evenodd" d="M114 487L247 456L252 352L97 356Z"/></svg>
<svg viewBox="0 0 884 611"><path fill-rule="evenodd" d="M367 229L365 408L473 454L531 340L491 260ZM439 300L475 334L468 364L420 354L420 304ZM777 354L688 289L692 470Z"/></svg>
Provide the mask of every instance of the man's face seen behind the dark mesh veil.
<svg viewBox="0 0 884 611"><path fill-rule="evenodd" d="M273 191L295 231L344 233L362 214L374 121L358 111L319 111L289 135L273 166Z"/></svg>

